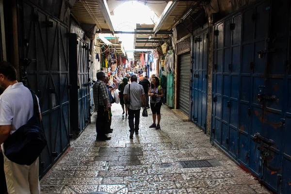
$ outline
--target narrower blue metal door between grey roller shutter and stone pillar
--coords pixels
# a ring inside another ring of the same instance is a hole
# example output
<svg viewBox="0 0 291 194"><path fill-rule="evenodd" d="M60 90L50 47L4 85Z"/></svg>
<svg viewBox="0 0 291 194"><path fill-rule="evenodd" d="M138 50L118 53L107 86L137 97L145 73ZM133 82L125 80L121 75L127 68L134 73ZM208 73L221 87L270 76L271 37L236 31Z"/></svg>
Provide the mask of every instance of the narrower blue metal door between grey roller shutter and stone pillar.
<svg viewBox="0 0 291 194"><path fill-rule="evenodd" d="M208 31L194 36L191 78L191 121L206 131Z"/></svg>

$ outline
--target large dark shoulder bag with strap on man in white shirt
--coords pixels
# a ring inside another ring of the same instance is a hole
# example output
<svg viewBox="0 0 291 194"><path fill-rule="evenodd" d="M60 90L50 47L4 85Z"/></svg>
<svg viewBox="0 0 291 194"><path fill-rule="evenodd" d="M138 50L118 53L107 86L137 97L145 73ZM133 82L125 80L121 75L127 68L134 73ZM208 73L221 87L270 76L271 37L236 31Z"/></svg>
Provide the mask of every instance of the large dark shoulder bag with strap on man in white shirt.
<svg viewBox="0 0 291 194"><path fill-rule="evenodd" d="M38 102L33 98L33 115L27 124L21 126L4 142L4 154L12 162L20 165L31 165L47 145L44 129L41 128Z"/></svg>

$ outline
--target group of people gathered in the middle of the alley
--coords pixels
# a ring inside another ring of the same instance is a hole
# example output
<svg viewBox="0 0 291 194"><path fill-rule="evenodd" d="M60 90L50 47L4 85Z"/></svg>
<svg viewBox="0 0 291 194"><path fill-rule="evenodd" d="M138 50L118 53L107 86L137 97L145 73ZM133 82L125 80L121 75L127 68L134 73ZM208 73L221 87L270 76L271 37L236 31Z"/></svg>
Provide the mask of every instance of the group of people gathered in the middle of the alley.
<svg viewBox="0 0 291 194"><path fill-rule="evenodd" d="M123 77L121 77L123 76ZM117 79L121 79L118 81ZM109 133L111 129L111 105L114 100L112 92L118 86L118 101L122 107L125 116L129 119L129 138L139 134L139 121L141 109L151 109L153 123L149 128L161 129L161 107L163 98L163 88L160 85L160 79L152 75L151 81L142 69L136 70L118 70L113 84L109 84L109 78L105 72L97 72L97 81L93 85L93 97L95 109L97 111L96 120L96 140L110 140ZM150 99L149 99L150 98ZM156 122L157 121L157 122Z"/></svg>

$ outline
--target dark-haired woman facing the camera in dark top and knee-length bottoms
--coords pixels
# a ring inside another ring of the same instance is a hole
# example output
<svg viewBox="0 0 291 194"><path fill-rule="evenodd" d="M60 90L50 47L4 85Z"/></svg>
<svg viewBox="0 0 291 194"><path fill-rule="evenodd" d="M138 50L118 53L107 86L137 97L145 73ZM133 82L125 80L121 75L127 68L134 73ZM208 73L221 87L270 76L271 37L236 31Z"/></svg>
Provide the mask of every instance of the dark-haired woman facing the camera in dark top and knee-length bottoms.
<svg viewBox="0 0 291 194"><path fill-rule="evenodd" d="M162 107L161 97L163 97L163 89L160 85L159 78L156 76L152 78L151 85L148 90L148 96L150 97L150 109L153 113L153 124L149 126L149 128L161 129L160 127L161 107ZM156 125L156 115L158 117L157 125Z"/></svg>

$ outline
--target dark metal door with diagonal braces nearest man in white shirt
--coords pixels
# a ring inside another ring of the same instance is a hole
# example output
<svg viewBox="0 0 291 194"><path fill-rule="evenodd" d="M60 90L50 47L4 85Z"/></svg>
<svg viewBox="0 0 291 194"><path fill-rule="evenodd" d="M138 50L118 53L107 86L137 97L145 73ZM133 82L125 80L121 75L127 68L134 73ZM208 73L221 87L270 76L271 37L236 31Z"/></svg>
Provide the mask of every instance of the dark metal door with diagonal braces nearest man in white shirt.
<svg viewBox="0 0 291 194"><path fill-rule="evenodd" d="M69 146L67 26L33 4L18 5L21 81L40 100L48 145L39 157L43 177Z"/></svg>

